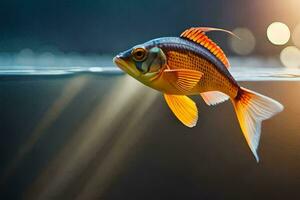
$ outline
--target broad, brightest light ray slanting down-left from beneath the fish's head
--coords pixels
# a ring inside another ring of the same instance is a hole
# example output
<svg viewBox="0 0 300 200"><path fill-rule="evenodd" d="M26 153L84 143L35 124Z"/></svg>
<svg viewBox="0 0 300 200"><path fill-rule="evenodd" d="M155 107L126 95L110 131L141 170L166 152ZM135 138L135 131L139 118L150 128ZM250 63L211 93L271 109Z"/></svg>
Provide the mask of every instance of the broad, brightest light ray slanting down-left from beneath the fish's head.
<svg viewBox="0 0 300 200"><path fill-rule="evenodd" d="M47 199L63 194L112 137L111 130L124 122L137 100L143 98L139 96L142 88L144 86L131 77L121 77L116 81L104 100L93 109L70 142L32 185L28 196Z"/></svg>

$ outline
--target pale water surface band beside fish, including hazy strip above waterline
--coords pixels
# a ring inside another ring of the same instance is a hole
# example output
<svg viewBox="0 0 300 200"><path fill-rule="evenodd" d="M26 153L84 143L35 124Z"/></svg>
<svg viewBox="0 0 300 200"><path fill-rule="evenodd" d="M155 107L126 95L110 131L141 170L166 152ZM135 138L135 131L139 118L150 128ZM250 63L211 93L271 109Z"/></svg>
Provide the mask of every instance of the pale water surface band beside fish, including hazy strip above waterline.
<svg viewBox="0 0 300 200"><path fill-rule="evenodd" d="M1 57L0 57L1 60ZM51 75L121 75L123 72L112 63L112 57L100 57L98 60L77 58L79 64L55 63L45 60L40 65L0 65L0 78L7 76L51 76ZM278 64L276 60L263 60L259 58L231 58L231 73L238 81L298 81L300 80L300 68L286 68ZM60 60L59 60L60 61ZM12 63L16 64L16 63ZM51 65L52 64L52 65ZM61 66L61 67L59 67Z"/></svg>

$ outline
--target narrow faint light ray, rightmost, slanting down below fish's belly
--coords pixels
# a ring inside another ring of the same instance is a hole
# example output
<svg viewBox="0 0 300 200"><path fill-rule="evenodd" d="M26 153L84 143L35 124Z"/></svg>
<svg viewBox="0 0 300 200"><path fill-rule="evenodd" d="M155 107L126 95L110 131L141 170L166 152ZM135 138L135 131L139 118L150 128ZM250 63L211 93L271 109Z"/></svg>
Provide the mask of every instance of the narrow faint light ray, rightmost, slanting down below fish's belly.
<svg viewBox="0 0 300 200"><path fill-rule="evenodd" d="M122 131L122 134L111 147L108 155L105 156L105 159L95 170L94 175L76 198L77 200L99 199L105 189L109 187L112 179L118 174L121 166L123 166L122 162L124 162L128 156L130 147L138 141L139 137L141 137L140 134L143 133L143 129L147 127L149 118L147 118L147 121L142 119L145 118L146 111L151 108L157 94L158 93L152 91L143 95L143 102L140 103L135 112L131 114L132 117L127 119L130 121L126 129ZM139 124L141 125L139 126Z"/></svg>

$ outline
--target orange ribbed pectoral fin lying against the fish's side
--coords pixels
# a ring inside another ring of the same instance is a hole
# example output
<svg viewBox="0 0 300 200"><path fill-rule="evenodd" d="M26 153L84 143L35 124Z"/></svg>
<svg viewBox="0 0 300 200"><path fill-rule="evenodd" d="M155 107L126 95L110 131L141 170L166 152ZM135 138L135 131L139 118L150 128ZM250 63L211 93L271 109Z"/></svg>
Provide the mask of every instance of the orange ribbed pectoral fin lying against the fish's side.
<svg viewBox="0 0 300 200"><path fill-rule="evenodd" d="M203 76L202 72L190 69L167 69L163 73L164 78L182 92L190 91Z"/></svg>

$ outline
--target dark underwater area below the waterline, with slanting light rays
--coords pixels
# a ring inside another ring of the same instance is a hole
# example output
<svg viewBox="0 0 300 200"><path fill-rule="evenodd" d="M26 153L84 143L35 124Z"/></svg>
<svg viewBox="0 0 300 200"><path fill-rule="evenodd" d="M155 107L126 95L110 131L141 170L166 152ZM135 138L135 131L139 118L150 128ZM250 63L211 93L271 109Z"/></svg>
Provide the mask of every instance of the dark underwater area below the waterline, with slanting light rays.
<svg viewBox="0 0 300 200"><path fill-rule="evenodd" d="M299 199L300 82L274 80L240 82L285 106L257 163L229 101L189 129L128 76L2 76L0 197Z"/></svg>

